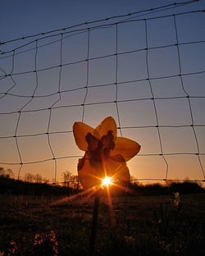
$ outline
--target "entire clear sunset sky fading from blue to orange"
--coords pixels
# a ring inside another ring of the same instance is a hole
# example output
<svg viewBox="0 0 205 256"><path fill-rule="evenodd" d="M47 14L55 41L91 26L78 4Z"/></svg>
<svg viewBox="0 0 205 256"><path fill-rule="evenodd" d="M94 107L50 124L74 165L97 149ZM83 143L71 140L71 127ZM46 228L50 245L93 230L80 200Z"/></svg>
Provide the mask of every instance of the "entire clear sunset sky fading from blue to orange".
<svg viewBox="0 0 205 256"><path fill-rule="evenodd" d="M2 0L1 42L40 35L0 45L0 167L76 175L74 122L112 116L118 135L141 145L131 176L203 180L205 15L172 15L205 1L42 34L174 2Z"/></svg>

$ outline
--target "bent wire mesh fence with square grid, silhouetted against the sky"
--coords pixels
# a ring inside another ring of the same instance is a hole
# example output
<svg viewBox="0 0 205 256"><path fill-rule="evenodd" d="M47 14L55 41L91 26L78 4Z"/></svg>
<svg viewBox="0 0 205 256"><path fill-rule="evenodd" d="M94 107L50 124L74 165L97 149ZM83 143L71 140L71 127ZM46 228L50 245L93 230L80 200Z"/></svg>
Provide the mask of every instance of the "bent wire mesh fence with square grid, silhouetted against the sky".
<svg viewBox="0 0 205 256"><path fill-rule="evenodd" d="M103 104L107 103L112 103L115 108L116 108L116 122L117 122L117 129L120 132L120 135L123 136L124 130L140 130L140 129L156 129L157 130L157 140L160 145L160 150L159 153L139 153L137 157L155 157L155 156L160 156L162 158L162 161L164 162L165 166L165 175L163 178L144 178L144 179L136 179L132 181L180 181L180 180L175 180L168 178L169 174L169 162L167 161L166 157L168 156L175 156L175 155L189 155L189 156L196 156L198 158L198 163L200 166L200 170L202 172L203 178L201 180L195 179L195 180L189 180L189 181L205 181L205 174L203 170L203 162L202 162L202 157L205 156L205 152L202 152L199 147L199 139L197 135L196 128L198 127L205 127L205 124L203 123L198 123L194 121L194 112L193 112L193 107L191 100L192 99L204 99L205 96L203 95L190 95L189 92L185 89L184 85L184 80L186 77L191 77L194 75L203 75L205 73L204 71L192 71L192 72L183 72L182 71L182 60L181 60L181 52L180 48L182 46L186 45L194 45L194 47L198 47L198 45L203 45L205 43L205 40L193 40L193 41L187 41L187 42L180 42L179 35L178 35L178 25L177 25L177 17L183 17L186 15L191 15L195 14L198 15L200 13L204 13L204 10L196 10L196 11L185 11L185 12L180 12L180 13L174 13L174 14L168 14L168 15L163 15L163 16L151 16L151 17L146 17L144 19L139 18L139 16L144 16L144 15L150 15L153 14L155 11L164 11L166 8L171 8L171 7L179 7L183 6L186 4L194 3L197 2L195 1L189 1L189 2L177 2L177 3L172 3L169 5L165 5L163 7L156 7L152 9L147 9L143 11L135 11L133 13L129 13L123 16L112 16L103 20L98 20L98 21L90 21L90 22L84 22L78 25L72 25L70 27L62 28L59 30L50 30L47 32L43 32L40 34L31 34L28 36L24 36L18 39L12 39L8 40L5 42L0 43L0 47L7 47L10 43L17 43L16 47L6 49L3 51L1 49L0 52L0 61L1 60L11 60L11 71L7 72L6 69L2 66L0 66L0 71L2 72L2 75L0 75L0 82L3 83L4 80L11 79L11 87L4 92L0 92L0 101L3 98L7 98L8 96L15 97L15 98L25 98L28 99L22 107L15 111L4 111L2 112L0 110L0 117L3 116L9 116L11 114L16 114L16 127L13 135L1 135L0 134L0 143L1 139L15 139L16 143L16 150L18 153L19 157L19 162L12 162L12 161L1 161L0 159L0 164L1 165L20 165L19 171L18 171L18 178L21 178L21 170L23 166L29 165L29 164L35 164L35 163L43 163L43 162L49 162L53 161L54 162L54 181L57 183L57 160L61 159L66 159L66 158L82 158L82 155L66 155L66 156L57 156L55 151L53 150L52 143L51 143L51 135L60 135L60 134L72 134L72 130L57 130L53 131L51 130L51 121L52 121L52 111L55 109L62 109L66 107L81 107L82 112L81 112L81 121L84 121L84 116L85 112L88 106L102 106ZM121 21L119 19L121 18L126 18L125 20ZM175 28L175 43L170 43L170 44L164 44L160 46L149 46L149 41L148 41L148 22L152 21L158 21L162 20L165 18L171 18L174 28ZM111 21L114 19L118 19L117 21L114 21L112 23L108 23L107 21ZM124 51L121 52L119 50L119 25L123 24L132 24L136 22L144 22L144 34L145 34L145 47L144 48L135 48L130 51ZM91 26L90 26L91 25ZM82 28L82 26L85 26ZM88 27L89 26L89 27ZM92 57L90 54L91 50L91 33L92 31L99 30L103 28L115 28L114 32L114 37L115 37L115 49L113 53L111 54L105 54L101 56L95 56ZM65 43L65 39L68 37L72 37L75 35L79 34L85 34L86 35L86 58L85 59L80 59L75 62L63 62L63 53L62 53L62 48ZM43 39L54 39L52 42L45 43L45 44L40 44ZM28 41L30 40L30 41ZM21 42L25 43L21 43ZM55 66L46 66L43 68L39 68L38 66L38 57L39 57L39 48L47 47L48 45L57 43L59 46L59 64ZM27 46L31 46L32 48L26 49ZM24 50L25 48L25 50ZM150 74L150 63L149 63L149 55L153 50L162 50L166 48L176 48L177 50L177 57L178 57L178 66L179 70L177 73L173 75L158 75L158 76L152 76ZM30 51L34 51L34 69L33 70L28 70L28 71L15 71L16 67L16 57L21 56L23 53L29 53ZM144 53L145 54L145 63L146 63L146 75L144 75L144 78L138 79L138 80L120 80L119 79L119 57L126 56L128 54L134 54L134 53ZM103 59L108 59L108 58L113 58L114 59L114 72L115 72L115 78L112 83L102 83L102 84L91 84L90 85L90 65L91 62L93 61L101 61ZM86 66L86 77L84 80L84 85L81 85L78 88L75 89L63 89L62 88L62 70L66 66L72 66L75 64L80 64L84 63ZM39 75L43 74L44 71L54 71L57 70L58 72L58 86L57 86L57 91L55 91L52 94L37 94L37 91L39 89ZM22 94L22 93L12 93L12 89L15 89L18 86L18 83L16 79L18 77L24 77L24 75L28 74L34 74L35 77L35 86L33 89L33 92L29 95L27 94ZM182 91L184 92L185 95L183 96L170 96L170 97L157 97L155 96L153 92L153 81L155 80L163 80L163 79L170 79L170 78L179 78L180 80L180 87ZM139 82L147 82L150 92L151 92L151 97L148 98L142 98L142 97L136 97L132 99L119 99L119 86L120 85L127 85L127 84L132 84L132 83L139 83ZM91 102L87 103L87 98L89 94L89 89L100 89L104 87L111 87L113 90L115 90L115 97L114 99L111 100L103 100L103 101L97 101L97 102ZM84 98L80 103L76 104L66 104L66 105L60 105L57 106L57 103L59 103L62 99L62 96L67 93L75 92L75 91L82 91L84 92ZM25 107L29 106L30 103L34 101L34 98L50 98L52 96L57 96L57 99L54 101L54 103L50 104L49 107L33 107L32 109L26 109ZM159 121L159 115L158 115L158 110L157 110L157 102L160 101L165 101L165 100L175 100L175 99L185 99L187 101L188 106L189 106L189 117L190 117L190 122L189 124L185 125L161 125ZM146 126L123 126L122 125L122 117L121 117L121 112L119 110L119 104L120 103L134 103L134 102L145 102L145 103L152 103L153 109L154 109L154 119L156 122L156 125L146 125ZM47 129L44 132L40 133L30 133L30 134L21 134L19 133L19 128L20 128L20 123L21 123L21 117L22 114L24 113L30 113L30 112L43 112L43 111L48 111L48 126ZM171 128L171 129L180 129L180 128L185 128L185 127L190 127L193 133L193 138L194 142L196 144L196 151L195 152L177 152L177 149L175 152L165 152L164 147L163 147L163 139L162 139L162 128ZM19 139L21 138L28 138L28 137L38 137L38 136L45 136L48 141L48 148L50 150L50 153L52 155L52 158L44 158L43 160L36 160L36 161L25 161L23 160L23 156L21 153L21 146L19 143ZM59 183L59 182L58 182ZM59 183L60 184L60 183Z"/></svg>

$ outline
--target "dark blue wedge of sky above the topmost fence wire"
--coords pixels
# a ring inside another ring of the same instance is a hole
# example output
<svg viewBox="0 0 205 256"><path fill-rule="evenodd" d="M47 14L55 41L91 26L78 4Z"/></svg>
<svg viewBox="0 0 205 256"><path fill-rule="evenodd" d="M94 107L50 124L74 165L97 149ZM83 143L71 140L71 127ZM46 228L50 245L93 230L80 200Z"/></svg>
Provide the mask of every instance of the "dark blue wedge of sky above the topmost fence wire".
<svg viewBox="0 0 205 256"><path fill-rule="evenodd" d="M2 0L0 6L1 41L59 29L84 21L160 7L178 0ZM204 0L177 11L205 7Z"/></svg>

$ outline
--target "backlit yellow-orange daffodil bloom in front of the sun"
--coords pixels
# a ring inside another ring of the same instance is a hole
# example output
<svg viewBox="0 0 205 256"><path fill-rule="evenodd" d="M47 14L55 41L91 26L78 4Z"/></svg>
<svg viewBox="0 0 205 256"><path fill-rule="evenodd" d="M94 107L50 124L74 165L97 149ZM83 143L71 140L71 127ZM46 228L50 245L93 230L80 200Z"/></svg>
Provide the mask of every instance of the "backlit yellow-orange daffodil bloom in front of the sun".
<svg viewBox="0 0 205 256"><path fill-rule="evenodd" d="M106 176L116 181L130 181L126 161L139 153L140 145L131 139L117 137L116 121L105 118L95 129L75 122L75 143L85 151L79 159L78 174L84 189L100 185Z"/></svg>

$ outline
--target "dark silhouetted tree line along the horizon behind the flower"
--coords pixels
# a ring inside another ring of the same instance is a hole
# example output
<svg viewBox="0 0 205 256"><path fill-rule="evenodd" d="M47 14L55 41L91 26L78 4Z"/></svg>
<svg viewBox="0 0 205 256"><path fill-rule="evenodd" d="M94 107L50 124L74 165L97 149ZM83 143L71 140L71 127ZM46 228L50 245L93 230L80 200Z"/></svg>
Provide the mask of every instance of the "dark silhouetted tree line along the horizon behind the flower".
<svg viewBox="0 0 205 256"><path fill-rule="evenodd" d="M62 173L61 183L49 183L49 180L39 174L25 174L24 181L14 179L11 169L5 170L0 167L0 194L25 194L25 195L65 195L79 193L82 190L78 176L72 175L70 171ZM112 196L139 196L139 195L162 195L204 193L205 189L198 182L166 182L143 185L138 181L130 181L123 184L125 190L112 186ZM106 191L104 191L106 194Z"/></svg>

